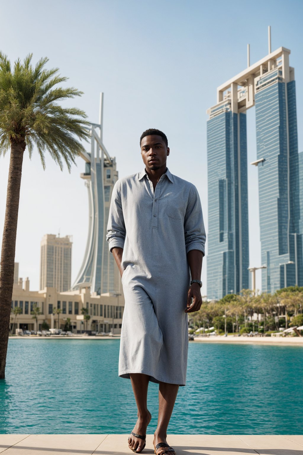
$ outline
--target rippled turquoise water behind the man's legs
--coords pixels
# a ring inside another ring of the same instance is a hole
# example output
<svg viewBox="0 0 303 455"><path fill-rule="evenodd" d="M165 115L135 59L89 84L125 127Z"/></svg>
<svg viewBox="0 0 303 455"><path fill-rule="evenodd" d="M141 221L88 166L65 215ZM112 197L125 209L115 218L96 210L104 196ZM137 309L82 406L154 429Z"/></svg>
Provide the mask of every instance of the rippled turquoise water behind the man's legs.
<svg viewBox="0 0 303 455"><path fill-rule="evenodd" d="M119 340L10 340L0 433L129 433L137 410L118 356ZM302 347L189 343L168 431L302 434L302 386ZM157 399L150 383L148 433Z"/></svg>

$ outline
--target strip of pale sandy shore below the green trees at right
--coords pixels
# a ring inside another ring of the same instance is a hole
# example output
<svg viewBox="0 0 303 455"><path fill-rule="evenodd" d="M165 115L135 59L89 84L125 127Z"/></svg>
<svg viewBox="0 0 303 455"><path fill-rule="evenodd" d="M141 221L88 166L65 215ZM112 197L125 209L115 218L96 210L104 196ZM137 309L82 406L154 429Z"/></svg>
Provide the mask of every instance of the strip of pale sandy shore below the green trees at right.
<svg viewBox="0 0 303 455"><path fill-rule="evenodd" d="M284 344L303 346L303 337L243 337L217 335L211 337L194 337L198 343L230 343L230 344Z"/></svg>

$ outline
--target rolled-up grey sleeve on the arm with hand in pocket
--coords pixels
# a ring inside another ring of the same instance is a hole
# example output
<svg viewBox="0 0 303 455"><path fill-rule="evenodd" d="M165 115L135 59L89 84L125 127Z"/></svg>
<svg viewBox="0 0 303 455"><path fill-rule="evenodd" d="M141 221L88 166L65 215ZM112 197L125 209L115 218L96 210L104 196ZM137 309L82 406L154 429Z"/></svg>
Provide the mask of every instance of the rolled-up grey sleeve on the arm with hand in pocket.
<svg viewBox="0 0 303 455"><path fill-rule="evenodd" d="M120 182L114 184L109 207L109 221L107 223L106 240L109 243L109 251L113 248L124 248L125 224L121 202Z"/></svg>

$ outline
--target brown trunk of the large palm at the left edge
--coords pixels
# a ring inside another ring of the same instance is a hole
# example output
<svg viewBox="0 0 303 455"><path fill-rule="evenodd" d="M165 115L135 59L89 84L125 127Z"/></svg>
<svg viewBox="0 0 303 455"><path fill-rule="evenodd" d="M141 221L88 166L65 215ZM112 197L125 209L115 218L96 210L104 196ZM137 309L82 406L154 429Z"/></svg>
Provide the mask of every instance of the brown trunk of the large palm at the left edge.
<svg viewBox="0 0 303 455"><path fill-rule="evenodd" d="M0 379L5 377L10 308L13 294L15 247L25 142L11 142L4 229L0 259Z"/></svg>

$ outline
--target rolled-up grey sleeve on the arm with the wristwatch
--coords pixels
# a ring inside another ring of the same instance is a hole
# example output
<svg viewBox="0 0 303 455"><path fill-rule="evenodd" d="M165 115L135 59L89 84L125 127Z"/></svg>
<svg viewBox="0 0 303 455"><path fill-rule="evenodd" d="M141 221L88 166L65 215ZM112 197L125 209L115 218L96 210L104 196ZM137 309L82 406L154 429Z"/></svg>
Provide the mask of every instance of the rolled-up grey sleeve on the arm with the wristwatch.
<svg viewBox="0 0 303 455"><path fill-rule="evenodd" d="M205 255L206 233L200 197L196 187L193 187L192 196L186 207L184 236L186 254L190 250L200 250Z"/></svg>

